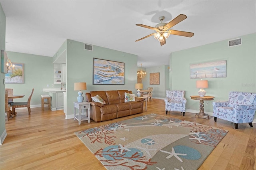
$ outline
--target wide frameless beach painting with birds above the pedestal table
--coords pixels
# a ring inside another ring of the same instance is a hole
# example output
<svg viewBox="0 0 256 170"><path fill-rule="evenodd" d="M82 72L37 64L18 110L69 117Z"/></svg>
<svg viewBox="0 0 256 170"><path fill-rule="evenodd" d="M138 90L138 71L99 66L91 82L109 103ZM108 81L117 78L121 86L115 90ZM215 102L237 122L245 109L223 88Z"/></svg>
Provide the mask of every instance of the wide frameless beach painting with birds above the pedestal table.
<svg viewBox="0 0 256 170"><path fill-rule="evenodd" d="M226 60L190 64L190 79L226 77Z"/></svg>

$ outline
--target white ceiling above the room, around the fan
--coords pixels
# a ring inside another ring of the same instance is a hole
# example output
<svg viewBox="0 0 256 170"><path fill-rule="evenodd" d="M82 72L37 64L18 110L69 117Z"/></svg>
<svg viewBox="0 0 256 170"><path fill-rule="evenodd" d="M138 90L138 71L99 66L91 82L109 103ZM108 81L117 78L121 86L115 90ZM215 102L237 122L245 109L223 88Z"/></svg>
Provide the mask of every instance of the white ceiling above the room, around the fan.
<svg viewBox="0 0 256 170"><path fill-rule="evenodd" d="M174 51L256 32L255 0L0 0L6 15L6 50L54 56L66 39L138 55L138 66L169 64ZM162 47L153 36L165 16L188 18L173 30L194 32L192 38L171 35Z"/></svg>

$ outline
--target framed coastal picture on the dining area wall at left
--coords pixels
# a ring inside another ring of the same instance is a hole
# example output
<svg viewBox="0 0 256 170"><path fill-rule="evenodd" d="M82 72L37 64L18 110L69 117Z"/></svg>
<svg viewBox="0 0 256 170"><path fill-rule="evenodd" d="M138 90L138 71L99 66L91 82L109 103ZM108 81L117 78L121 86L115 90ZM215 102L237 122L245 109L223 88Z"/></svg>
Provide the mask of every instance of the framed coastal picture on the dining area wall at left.
<svg viewBox="0 0 256 170"><path fill-rule="evenodd" d="M14 69L10 69L5 74L6 84L23 84L24 83L24 63L12 63Z"/></svg>

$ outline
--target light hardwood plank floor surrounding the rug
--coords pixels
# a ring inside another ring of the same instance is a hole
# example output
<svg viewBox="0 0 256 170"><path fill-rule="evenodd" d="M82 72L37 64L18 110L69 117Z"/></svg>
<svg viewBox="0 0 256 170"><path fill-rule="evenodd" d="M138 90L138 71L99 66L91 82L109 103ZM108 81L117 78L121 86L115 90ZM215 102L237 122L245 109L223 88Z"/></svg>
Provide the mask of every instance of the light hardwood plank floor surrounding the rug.
<svg viewBox="0 0 256 170"><path fill-rule="evenodd" d="M199 109L199 108L198 108ZM41 108L16 110L17 116L7 121L7 137L0 146L0 169L69 169L104 170L100 161L88 150L74 132L106 125L132 117L158 113L165 115L164 101L153 99L147 111L111 121L91 123L65 119L63 110L42 111ZM197 119L194 113L170 112L168 116L229 130L204 161L200 170L256 170L256 124L238 125L220 119Z"/></svg>

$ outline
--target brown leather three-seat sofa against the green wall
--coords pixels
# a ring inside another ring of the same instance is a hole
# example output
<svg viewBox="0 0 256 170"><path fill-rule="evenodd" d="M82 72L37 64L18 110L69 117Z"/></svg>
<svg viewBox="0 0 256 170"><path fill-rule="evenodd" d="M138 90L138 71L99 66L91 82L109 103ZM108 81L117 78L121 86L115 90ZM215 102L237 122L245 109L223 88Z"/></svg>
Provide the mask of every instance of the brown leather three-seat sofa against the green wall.
<svg viewBox="0 0 256 170"><path fill-rule="evenodd" d="M144 99L135 97L135 101L124 102L124 93L128 90L90 91L86 93L86 101L91 103L90 118L95 122L108 121L118 117L134 115L143 112ZM92 101L92 97L99 95L105 105Z"/></svg>

